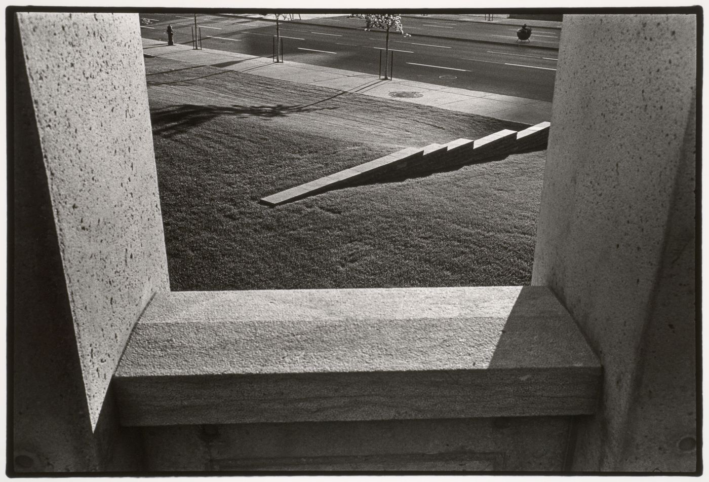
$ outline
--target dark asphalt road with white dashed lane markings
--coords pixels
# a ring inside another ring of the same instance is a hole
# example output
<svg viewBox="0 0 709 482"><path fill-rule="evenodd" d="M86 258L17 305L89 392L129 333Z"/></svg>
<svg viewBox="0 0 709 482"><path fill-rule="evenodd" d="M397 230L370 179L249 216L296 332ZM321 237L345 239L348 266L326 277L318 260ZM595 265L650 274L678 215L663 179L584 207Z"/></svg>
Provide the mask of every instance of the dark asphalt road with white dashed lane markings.
<svg viewBox="0 0 709 482"><path fill-rule="evenodd" d="M146 13L140 16L143 36L167 39L172 24L177 43L191 44L194 16ZM203 48L271 57L276 25L252 18L198 15ZM376 74L386 33L364 31L364 21L322 18L281 21L284 59L311 65ZM359 26L360 28L354 28ZM559 30L535 28L533 44L515 43L515 26L406 18L403 37L389 34L393 77L430 84L513 95L550 102L554 92ZM445 35L431 37L427 35ZM538 38L537 38L538 37ZM486 43L493 40L503 43ZM544 43L544 44L542 44Z"/></svg>

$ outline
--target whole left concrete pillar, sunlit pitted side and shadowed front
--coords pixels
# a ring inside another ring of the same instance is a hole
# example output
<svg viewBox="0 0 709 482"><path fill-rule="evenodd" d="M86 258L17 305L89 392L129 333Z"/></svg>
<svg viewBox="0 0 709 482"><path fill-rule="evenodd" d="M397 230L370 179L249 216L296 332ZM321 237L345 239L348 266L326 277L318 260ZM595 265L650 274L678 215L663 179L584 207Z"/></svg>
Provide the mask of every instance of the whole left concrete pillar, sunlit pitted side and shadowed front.
<svg viewBox="0 0 709 482"><path fill-rule="evenodd" d="M14 27L9 469L136 469L109 385L169 290L138 15L18 13Z"/></svg>

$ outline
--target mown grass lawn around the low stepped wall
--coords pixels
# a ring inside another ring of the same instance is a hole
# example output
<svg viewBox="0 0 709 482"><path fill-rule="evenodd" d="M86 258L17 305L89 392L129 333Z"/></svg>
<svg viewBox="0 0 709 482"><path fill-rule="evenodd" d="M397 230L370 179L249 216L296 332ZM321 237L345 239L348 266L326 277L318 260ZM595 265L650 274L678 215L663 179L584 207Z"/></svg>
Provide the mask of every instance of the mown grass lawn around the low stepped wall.
<svg viewBox="0 0 709 482"><path fill-rule="evenodd" d="M530 283L545 151L258 199L524 124L146 58L172 290Z"/></svg>

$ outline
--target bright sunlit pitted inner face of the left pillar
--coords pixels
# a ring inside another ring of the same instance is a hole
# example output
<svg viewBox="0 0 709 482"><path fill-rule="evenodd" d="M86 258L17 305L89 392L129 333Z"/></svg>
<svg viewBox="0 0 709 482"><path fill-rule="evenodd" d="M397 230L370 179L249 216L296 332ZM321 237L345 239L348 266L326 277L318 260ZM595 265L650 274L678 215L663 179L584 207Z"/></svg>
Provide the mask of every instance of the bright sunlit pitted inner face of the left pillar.
<svg viewBox="0 0 709 482"><path fill-rule="evenodd" d="M125 342L169 290L140 23L18 13L91 425Z"/></svg>

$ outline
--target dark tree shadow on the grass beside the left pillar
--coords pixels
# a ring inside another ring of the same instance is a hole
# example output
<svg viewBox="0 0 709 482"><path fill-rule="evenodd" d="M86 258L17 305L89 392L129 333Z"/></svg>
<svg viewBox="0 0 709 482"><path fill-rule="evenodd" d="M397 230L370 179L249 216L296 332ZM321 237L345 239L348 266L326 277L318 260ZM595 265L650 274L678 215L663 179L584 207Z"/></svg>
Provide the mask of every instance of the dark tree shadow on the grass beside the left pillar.
<svg viewBox="0 0 709 482"><path fill-rule="evenodd" d="M336 97L336 96L333 96ZM290 114L301 114L321 110L337 109L337 107L313 107L315 104L325 102L323 99L307 105L284 105L272 106L231 106L196 105L182 104L179 106L169 106L157 109L150 113L152 121L152 131L166 137L175 136L178 133L189 131L191 128L199 126L207 121L220 116L233 116L239 118L246 117L284 117Z"/></svg>

